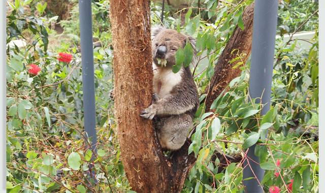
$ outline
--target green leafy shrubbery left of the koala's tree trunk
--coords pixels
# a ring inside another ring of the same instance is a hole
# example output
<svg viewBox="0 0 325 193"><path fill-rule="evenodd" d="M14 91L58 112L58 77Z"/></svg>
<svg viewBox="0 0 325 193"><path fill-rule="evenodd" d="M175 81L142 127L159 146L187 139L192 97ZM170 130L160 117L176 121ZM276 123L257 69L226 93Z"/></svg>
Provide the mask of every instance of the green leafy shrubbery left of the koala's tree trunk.
<svg viewBox="0 0 325 193"><path fill-rule="evenodd" d="M50 20L24 15L23 10L28 6L28 2L16 3L7 16L7 41L32 41L26 47L15 45L7 49L9 192L85 192L84 189L105 192L109 191L112 178L118 179L116 183L126 184L115 150L116 137L112 130L106 129L114 125L110 118L112 113L108 111L112 104L106 100L112 87L111 50L94 49L98 140L109 143L99 145L98 153L89 152L81 131L83 91L79 50L69 43L48 50L49 36L54 35L50 34L53 33ZM73 60L60 62L59 52L72 53ZM32 63L41 71L28 73ZM90 159L91 156L94 159ZM100 186L93 186L94 182L85 175L88 165L93 165L92 171ZM125 185L116 188L128 189Z"/></svg>

